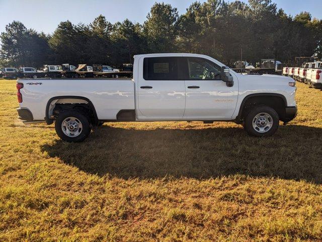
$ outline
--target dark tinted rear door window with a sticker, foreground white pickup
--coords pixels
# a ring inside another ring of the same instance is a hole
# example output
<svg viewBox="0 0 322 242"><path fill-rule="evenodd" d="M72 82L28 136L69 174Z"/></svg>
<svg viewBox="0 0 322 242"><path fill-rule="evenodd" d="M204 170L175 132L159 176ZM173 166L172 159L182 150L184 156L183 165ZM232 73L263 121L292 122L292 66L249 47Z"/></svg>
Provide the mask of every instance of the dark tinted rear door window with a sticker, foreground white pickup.
<svg viewBox="0 0 322 242"><path fill-rule="evenodd" d="M183 80L178 77L178 57L149 57L143 61L145 80Z"/></svg>

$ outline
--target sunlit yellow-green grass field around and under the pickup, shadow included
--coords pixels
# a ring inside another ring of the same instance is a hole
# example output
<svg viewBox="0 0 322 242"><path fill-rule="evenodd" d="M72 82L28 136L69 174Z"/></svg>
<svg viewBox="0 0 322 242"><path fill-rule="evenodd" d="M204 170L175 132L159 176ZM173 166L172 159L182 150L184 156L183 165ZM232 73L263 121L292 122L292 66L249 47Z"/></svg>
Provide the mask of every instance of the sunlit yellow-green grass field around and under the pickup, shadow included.
<svg viewBox="0 0 322 242"><path fill-rule="evenodd" d="M105 124L80 144L17 118L0 80L1 241L322 241L322 91L271 138L239 125Z"/></svg>

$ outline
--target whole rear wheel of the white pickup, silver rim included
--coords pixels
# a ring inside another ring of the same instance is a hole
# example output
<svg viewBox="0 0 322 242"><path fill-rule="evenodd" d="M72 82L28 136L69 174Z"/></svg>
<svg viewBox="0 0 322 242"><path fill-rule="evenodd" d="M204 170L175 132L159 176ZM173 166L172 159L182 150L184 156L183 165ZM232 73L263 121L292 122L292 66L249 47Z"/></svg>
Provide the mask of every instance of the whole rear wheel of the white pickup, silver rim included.
<svg viewBox="0 0 322 242"><path fill-rule="evenodd" d="M87 116L75 110L68 110L57 117L55 130L64 141L82 142L91 133L91 126Z"/></svg>

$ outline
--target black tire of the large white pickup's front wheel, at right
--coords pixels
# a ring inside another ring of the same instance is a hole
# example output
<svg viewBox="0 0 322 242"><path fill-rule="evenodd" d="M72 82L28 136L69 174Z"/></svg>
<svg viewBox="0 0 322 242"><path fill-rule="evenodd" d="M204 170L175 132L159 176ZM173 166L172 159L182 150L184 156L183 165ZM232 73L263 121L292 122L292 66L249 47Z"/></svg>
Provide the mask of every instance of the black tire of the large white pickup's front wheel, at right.
<svg viewBox="0 0 322 242"><path fill-rule="evenodd" d="M256 118L256 116L258 116L258 118ZM260 118L262 118L262 120ZM255 128L253 127L253 121L255 122L254 123ZM258 122L259 124L257 125ZM271 123L270 126L269 126L269 123ZM263 127L259 127L262 125ZM243 126L250 136L255 136L255 137L272 136L277 131L279 126L278 113L269 106L254 107L246 115Z"/></svg>

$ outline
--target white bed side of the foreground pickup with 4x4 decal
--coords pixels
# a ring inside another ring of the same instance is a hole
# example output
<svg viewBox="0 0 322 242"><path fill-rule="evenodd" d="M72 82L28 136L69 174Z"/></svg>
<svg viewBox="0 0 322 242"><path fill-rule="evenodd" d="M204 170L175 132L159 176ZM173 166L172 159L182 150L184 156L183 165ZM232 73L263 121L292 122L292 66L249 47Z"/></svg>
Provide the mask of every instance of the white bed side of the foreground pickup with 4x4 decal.
<svg viewBox="0 0 322 242"><path fill-rule="evenodd" d="M116 119L120 110L135 109L134 82L128 78L40 78L17 82L24 84L20 107L32 109L34 120L45 119L44 110L54 99L63 103L75 98L77 103L79 97L84 97L95 106L101 120Z"/></svg>

